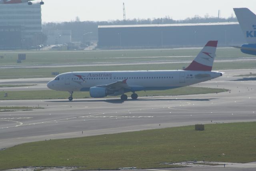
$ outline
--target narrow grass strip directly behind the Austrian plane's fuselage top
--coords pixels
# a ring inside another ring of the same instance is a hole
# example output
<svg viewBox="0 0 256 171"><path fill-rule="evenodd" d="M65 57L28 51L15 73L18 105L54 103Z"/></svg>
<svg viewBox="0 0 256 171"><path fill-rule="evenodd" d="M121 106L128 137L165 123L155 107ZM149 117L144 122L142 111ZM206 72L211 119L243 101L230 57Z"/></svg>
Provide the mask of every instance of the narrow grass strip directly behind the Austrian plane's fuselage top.
<svg viewBox="0 0 256 171"><path fill-rule="evenodd" d="M60 67L60 68L8 68L0 69L0 79L14 78L46 78L54 77L51 72L74 72L74 71L128 71L128 70L181 70L188 64L143 64L124 66L82 66L82 67ZM215 63L213 70L256 68L256 62L225 62Z"/></svg>

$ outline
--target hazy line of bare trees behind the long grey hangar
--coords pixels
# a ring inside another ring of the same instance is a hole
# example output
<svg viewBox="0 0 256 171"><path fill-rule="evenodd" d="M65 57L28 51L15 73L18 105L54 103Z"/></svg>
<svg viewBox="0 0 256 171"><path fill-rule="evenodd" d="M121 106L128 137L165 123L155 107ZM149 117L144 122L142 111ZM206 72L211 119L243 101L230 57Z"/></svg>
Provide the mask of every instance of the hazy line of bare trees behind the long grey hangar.
<svg viewBox="0 0 256 171"><path fill-rule="evenodd" d="M106 25L134 25L134 24L185 24L185 23L215 23L215 22L237 22L233 16L229 18L209 17L206 14L204 17L194 16L185 20L173 20L170 16L164 18L153 19L132 19L132 20L112 20L112 21L80 21L79 17L70 22L48 22L42 24L44 34L48 30L71 30L72 41L82 41L83 35L87 34L86 39L90 41L98 40L98 26Z"/></svg>

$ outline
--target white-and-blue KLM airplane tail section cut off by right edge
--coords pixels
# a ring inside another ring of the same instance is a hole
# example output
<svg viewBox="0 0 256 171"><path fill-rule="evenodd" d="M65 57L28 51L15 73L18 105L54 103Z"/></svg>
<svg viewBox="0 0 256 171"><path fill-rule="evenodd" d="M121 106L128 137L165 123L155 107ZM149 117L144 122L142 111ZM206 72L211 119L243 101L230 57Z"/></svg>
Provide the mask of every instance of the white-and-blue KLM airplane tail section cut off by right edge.
<svg viewBox="0 0 256 171"><path fill-rule="evenodd" d="M256 55L256 15L248 8L233 10L248 44L232 47L239 48L244 54Z"/></svg>

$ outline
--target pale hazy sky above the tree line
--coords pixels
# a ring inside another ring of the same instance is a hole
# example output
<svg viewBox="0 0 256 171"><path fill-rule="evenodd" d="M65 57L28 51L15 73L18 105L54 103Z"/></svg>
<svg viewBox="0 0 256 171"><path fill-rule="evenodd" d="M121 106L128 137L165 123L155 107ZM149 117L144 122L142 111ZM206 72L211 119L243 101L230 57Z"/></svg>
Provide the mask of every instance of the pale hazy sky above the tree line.
<svg viewBox="0 0 256 171"><path fill-rule="evenodd" d="M37 0L39 1L39 0ZM44 0L42 22L109 21L123 19L123 2L126 19L161 18L174 20L199 15L204 17L235 16L233 8L249 8L256 13L256 0Z"/></svg>

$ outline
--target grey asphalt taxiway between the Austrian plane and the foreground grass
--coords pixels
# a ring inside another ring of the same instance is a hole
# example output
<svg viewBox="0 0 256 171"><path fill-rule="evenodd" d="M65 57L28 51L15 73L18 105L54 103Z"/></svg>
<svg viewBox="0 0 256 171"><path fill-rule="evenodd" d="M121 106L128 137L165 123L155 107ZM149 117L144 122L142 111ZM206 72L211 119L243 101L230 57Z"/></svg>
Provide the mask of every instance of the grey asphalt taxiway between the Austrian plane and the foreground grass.
<svg viewBox="0 0 256 171"><path fill-rule="evenodd" d="M255 79L250 78L252 80L245 81L242 77L233 77L250 72L255 73L256 70L226 70L220 78L194 85L231 90L218 94L139 97L137 100L127 101L120 101L119 98L76 99L76 97L72 102L67 99L3 100L0 101L1 106L39 106L44 109L1 112L0 148L45 139L196 123L256 121ZM48 79L23 81L43 85ZM42 88L44 87L38 89Z"/></svg>

